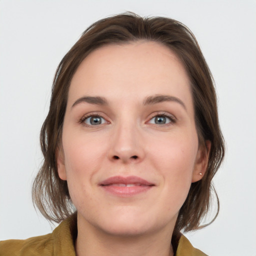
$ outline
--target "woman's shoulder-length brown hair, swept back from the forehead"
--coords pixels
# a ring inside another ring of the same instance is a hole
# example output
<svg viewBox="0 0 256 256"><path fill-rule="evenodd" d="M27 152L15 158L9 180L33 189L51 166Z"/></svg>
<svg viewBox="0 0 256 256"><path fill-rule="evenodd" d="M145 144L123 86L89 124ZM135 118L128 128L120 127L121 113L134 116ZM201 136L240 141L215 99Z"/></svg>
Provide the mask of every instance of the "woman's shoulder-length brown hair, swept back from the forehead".
<svg viewBox="0 0 256 256"><path fill-rule="evenodd" d="M110 43L137 40L151 40L167 46L182 61L190 78L199 146L206 153L205 140L210 140L211 148L205 175L191 184L179 210L175 230L190 231L201 227L200 222L210 207L212 192L215 193L212 178L224 156L213 79L194 35L185 25L171 18L142 18L130 12L107 17L90 25L57 67L49 112L40 133L44 161L32 188L33 203L50 221L59 222L75 211L67 182L59 178L56 166L56 151L61 141L71 78L81 61L94 49ZM217 195L216 199L218 213Z"/></svg>

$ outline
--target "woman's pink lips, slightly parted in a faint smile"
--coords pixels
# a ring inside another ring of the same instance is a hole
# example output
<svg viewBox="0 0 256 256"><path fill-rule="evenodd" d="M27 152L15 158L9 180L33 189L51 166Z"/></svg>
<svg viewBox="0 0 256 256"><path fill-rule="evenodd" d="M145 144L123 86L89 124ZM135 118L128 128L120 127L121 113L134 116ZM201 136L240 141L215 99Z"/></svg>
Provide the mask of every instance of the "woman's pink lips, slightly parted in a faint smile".
<svg viewBox="0 0 256 256"><path fill-rule="evenodd" d="M104 191L117 196L133 196L151 189L154 183L137 176L113 176L103 180L99 185Z"/></svg>

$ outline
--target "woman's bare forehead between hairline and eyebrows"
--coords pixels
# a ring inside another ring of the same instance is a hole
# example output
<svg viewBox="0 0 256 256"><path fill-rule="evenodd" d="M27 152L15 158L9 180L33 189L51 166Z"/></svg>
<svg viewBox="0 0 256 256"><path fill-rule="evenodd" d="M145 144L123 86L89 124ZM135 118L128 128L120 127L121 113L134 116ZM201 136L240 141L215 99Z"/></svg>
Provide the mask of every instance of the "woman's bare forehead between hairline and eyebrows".
<svg viewBox="0 0 256 256"><path fill-rule="evenodd" d="M154 41L110 44L92 51L72 77L68 101L82 94L110 100L169 94L191 101L189 79L181 61Z"/></svg>

